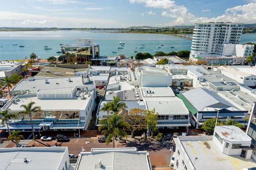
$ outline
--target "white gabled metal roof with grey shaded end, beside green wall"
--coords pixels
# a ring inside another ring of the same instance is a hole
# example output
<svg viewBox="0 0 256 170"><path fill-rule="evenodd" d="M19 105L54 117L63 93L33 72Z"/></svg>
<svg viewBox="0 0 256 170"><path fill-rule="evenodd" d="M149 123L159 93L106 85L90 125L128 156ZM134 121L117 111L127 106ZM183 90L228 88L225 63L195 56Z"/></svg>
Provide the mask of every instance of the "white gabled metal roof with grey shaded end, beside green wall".
<svg viewBox="0 0 256 170"><path fill-rule="evenodd" d="M182 93L198 111L216 111L223 108L238 110L221 96L205 88L195 88Z"/></svg>

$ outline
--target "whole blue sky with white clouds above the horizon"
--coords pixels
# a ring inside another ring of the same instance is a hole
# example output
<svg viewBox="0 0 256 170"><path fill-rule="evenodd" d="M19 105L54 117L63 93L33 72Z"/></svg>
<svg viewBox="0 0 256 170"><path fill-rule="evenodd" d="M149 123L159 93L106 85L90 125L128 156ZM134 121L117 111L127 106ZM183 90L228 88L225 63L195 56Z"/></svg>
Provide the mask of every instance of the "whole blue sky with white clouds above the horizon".
<svg viewBox="0 0 256 170"><path fill-rule="evenodd" d="M1 0L0 27L126 28L256 23L256 0Z"/></svg>

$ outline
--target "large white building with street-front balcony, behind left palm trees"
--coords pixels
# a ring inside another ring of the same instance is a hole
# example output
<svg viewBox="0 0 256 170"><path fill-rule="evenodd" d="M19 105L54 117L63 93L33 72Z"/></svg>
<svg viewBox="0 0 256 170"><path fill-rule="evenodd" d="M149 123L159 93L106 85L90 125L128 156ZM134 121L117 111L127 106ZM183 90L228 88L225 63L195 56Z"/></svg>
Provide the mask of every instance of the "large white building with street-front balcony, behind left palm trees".
<svg viewBox="0 0 256 170"><path fill-rule="evenodd" d="M87 130L95 108L95 82L89 76L22 79L10 90L12 98L2 110L23 111L22 104L35 102L40 112L32 113L35 130ZM9 121L11 130L30 131L30 118L18 114ZM6 130L6 125L0 129Z"/></svg>

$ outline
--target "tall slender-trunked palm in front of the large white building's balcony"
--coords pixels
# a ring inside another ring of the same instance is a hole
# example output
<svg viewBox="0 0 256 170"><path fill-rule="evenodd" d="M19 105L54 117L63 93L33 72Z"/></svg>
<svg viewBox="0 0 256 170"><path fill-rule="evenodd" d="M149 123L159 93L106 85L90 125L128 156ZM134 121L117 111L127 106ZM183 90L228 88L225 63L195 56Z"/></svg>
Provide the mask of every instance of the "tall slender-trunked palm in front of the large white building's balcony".
<svg viewBox="0 0 256 170"><path fill-rule="evenodd" d="M29 116L30 124L31 124L31 128L32 128L32 134L33 134L33 140L35 140L34 127L33 127L33 122L32 122L32 113L40 112L41 107L40 106L34 106L33 107L33 104L35 104L35 102L30 102L27 105L22 104L20 106L20 108L24 108L24 111L22 111L20 113L21 114L26 114L26 115Z"/></svg>

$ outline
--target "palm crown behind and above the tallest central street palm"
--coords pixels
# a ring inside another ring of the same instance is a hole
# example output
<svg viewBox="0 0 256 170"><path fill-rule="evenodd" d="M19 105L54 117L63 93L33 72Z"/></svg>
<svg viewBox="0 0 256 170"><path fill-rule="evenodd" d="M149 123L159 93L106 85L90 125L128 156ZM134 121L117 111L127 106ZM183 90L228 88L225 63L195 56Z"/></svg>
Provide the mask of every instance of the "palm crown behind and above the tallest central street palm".
<svg viewBox="0 0 256 170"><path fill-rule="evenodd" d="M107 115L109 115L110 111L118 113L124 108L127 108L125 102L121 102L119 97L114 96L112 102L104 103L100 111L107 112Z"/></svg>

